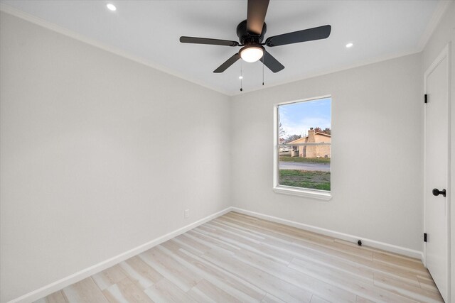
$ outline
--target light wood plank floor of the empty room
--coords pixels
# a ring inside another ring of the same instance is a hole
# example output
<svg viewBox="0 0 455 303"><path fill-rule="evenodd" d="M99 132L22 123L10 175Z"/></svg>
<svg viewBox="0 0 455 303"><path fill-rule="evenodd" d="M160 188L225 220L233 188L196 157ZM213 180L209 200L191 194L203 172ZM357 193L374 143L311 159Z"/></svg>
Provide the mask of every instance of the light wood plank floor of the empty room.
<svg viewBox="0 0 455 303"><path fill-rule="evenodd" d="M230 212L38 302L443 302L420 260Z"/></svg>

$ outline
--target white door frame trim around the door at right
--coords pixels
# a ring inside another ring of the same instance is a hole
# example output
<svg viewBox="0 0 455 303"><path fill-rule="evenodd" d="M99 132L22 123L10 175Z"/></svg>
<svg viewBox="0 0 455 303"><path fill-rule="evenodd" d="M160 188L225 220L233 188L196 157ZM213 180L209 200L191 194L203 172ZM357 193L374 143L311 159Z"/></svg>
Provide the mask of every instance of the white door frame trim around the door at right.
<svg viewBox="0 0 455 303"><path fill-rule="evenodd" d="M450 299L451 297L451 43L447 44L441 53L437 56L436 60L433 61L432 65L428 67L428 69L424 72L424 94L427 94L427 77L434 69L441 63L444 58L447 58L447 184L446 189L446 227L447 227L447 294L446 297ZM427 155L426 155L426 147L427 147L427 106L424 106L424 180L423 180L423 197L424 197L424 209L423 209L423 219L424 219L424 232L427 231L427 184L425 181L425 177L427 175L426 167L427 167ZM427 267L427 243L424 242L424 251L423 251L423 263L425 268Z"/></svg>

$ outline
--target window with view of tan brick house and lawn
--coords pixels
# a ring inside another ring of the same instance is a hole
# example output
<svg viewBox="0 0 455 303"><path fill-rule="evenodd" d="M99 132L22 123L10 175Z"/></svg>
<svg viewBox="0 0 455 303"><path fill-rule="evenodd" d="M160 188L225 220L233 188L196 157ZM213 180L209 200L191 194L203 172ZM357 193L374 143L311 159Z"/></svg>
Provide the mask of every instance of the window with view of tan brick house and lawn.
<svg viewBox="0 0 455 303"><path fill-rule="evenodd" d="M331 198L331 97L275 107L274 190Z"/></svg>

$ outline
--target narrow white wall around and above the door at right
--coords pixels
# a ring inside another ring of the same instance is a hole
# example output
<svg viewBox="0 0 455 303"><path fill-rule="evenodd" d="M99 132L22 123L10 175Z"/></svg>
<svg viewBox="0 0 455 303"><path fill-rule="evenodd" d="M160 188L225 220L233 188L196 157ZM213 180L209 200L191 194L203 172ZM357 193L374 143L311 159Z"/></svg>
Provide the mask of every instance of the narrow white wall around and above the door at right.
<svg viewBox="0 0 455 303"><path fill-rule="evenodd" d="M455 302L455 1L452 1L422 52L425 72L451 43L451 302ZM423 75L422 75L423 77Z"/></svg>

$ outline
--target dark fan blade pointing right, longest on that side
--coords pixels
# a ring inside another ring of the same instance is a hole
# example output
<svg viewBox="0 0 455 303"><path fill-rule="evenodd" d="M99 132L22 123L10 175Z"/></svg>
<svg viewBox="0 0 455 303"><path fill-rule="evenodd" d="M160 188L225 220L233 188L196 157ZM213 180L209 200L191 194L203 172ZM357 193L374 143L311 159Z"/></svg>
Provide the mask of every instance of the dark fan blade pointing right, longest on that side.
<svg viewBox="0 0 455 303"><path fill-rule="evenodd" d="M292 43L300 43L311 40L325 39L330 35L331 26L319 26L317 28L308 28L302 31L294 31L292 33L284 33L269 37L265 41L267 46L279 46Z"/></svg>

